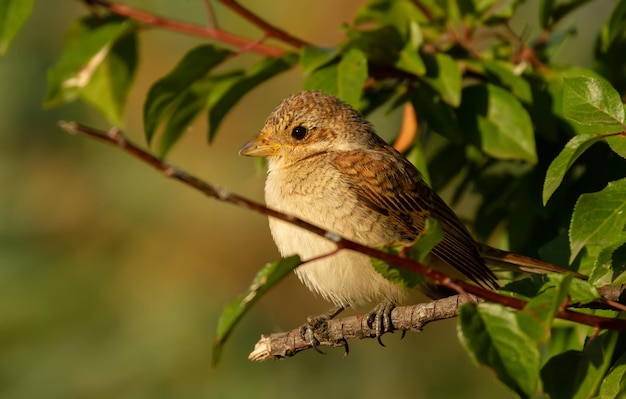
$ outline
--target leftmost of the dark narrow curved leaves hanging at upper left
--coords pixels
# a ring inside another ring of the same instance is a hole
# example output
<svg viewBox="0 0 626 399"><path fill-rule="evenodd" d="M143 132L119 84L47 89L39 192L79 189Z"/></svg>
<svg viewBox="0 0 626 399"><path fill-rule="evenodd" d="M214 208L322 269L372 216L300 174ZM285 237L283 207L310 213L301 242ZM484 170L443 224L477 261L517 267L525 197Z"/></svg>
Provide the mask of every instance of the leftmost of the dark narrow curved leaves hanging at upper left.
<svg viewBox="0 0 626 399"><path fill-rule="evenodd" d="M143 125L149 143L159 124L170 116L173 104L185 96L194 82L204 78L231 54L211 44L195 47L183 56L171 72L152 85L143 107Z"/></svg>

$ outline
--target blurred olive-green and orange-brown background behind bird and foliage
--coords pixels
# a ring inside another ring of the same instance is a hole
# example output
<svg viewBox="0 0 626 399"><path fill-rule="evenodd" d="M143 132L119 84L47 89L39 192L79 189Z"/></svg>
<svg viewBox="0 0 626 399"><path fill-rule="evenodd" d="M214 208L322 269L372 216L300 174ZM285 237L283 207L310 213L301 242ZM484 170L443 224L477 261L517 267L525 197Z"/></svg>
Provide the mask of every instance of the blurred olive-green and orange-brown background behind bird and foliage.
<svg viewBox="0 0 626 399"><path fill-rule="evenodd" d="M198 24L200 0L126 4ZM363 3L356 0L259 1L246 6L316 44L342 38ZM558 57L585 65L593 37L613 1L584 7L567 24L579 36ZM259 32L215 6L222 27ZM217 368L210 347L223 306L256 271L277 259L263 216L207 199L119 150L62 132L76 120L108 128L86 105L41 107L46 69L59 57L64 32L85 15L80 1L36 1L25 29L0 59L0 397L2 398L507 398L485 368L472 364L455 321L420 334L351 343L262 364L247 360L262 333L294 328L328 304L293 276L243 320ZM517 27L536 29L536 2ZM578 18L578 19L576 19ZM149 30L140 37L140 68L125 129L145 145L141 107L151 82L200 44ZM242 66L258 59L243 55ZM295 69L244 97L216 140L199 120L168 156L210 182L262 200L264 170L237 155L267 114L301 87ZM392 137L399 115L372 120Z"/></svg>

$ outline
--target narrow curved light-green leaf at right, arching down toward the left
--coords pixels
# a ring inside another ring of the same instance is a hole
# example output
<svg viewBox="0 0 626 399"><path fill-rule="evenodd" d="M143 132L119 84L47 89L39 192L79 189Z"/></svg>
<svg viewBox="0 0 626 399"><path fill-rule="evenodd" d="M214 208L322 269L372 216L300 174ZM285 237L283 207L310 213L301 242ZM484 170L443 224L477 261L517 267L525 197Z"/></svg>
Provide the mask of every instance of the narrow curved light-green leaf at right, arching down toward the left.
<svg viewBox="0 0 626 399"><path fill-rule="evenodd" d="M574 164L576 159L581 156L589 147L602 140L602 136L597 134L582 134L574 136L563 148L563 151L554 158L548 171L546 179L543 182L543 204L545 205L552 194L561 185L565 173Z"/></svg>

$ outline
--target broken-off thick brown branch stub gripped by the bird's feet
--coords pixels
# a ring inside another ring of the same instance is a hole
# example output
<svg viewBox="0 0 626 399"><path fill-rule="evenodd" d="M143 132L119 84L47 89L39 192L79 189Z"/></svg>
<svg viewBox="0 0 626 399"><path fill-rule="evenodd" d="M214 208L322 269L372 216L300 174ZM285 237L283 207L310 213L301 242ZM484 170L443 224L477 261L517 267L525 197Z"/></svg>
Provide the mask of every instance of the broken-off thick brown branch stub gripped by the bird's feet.
<svg viewBox="0 0 626 399"><path fill-rule="evenodd" d="M403 333L405 331L420 332L426 324L432 321L456 317L459 307L468 299L455 295L413 306L398 306L391 312L393 330L385 332L395 330ZM477 297L469 300L480 301ZM377 338L376 329L368 326L365 315L327 320L323 325L314 329L313 335L318 341L317 346L343 346L346 353L348 353L348 340L350 339ZM300 328L296 328L269 336L261 335L261 339L248 355L248 359L257 362L282 359L311 348L313 348L311 340L302 335Z"/></svg>

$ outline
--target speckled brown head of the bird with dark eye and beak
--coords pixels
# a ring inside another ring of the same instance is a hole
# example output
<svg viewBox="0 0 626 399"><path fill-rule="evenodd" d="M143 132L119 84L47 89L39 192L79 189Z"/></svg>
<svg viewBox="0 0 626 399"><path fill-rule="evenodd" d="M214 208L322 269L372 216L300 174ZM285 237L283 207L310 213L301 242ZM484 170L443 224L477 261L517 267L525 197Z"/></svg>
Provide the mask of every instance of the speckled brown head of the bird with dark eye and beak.
<svg viewBox="0 0 626 399"><path fill-rule="evenodd" d="M368 149L380 138L361 114L337 97L304 91L283 100L261 133L239 153L287 166L332 151Z"/></svg>

